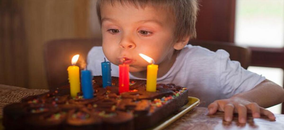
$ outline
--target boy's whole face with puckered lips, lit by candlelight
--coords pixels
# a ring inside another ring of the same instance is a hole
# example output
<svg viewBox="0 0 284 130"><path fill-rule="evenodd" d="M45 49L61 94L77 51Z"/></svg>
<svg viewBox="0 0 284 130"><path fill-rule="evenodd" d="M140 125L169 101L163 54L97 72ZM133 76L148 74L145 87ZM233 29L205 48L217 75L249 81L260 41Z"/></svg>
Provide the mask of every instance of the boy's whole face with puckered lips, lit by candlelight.
<svg viewBox="0 0 284 130"><path fill-rule="evenodd" d="M162 8L136 8L133 5L101 5L103 52L110 62L130 65L130 72L147 69L149 63L138 54L154 59L155 64L169 60L174 52L174 17Z"/></svg>

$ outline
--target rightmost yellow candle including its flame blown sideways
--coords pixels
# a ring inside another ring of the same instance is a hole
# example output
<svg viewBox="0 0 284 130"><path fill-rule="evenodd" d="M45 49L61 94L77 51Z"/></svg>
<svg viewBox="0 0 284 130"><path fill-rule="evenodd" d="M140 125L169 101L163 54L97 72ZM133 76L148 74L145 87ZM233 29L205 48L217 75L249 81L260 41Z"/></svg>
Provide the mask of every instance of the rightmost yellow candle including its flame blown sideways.
<svg viewBox="0 0 284 130"><path fill-rule="evenodd" d="M139 56L141 56L147 62L152 63L151 65L147 65L146 91L156 92L158 65L154 65L154 60L149 56L141 53Z"/></svg>

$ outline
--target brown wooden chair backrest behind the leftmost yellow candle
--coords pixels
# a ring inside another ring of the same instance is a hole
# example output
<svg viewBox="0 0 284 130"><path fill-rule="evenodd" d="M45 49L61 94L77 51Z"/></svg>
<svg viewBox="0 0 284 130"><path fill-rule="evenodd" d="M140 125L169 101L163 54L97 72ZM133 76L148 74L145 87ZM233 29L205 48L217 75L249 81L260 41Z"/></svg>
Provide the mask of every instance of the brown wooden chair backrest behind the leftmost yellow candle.
<svg viewBox="0 0 284 130"><path fill-rule="evenodd" d="M87 60L89 50L101 44L101 39L60 39L45 43L44 58L49 90L68 85L67 67L71 65L74 55L80 54L76 63L80 67Z"/></svg>

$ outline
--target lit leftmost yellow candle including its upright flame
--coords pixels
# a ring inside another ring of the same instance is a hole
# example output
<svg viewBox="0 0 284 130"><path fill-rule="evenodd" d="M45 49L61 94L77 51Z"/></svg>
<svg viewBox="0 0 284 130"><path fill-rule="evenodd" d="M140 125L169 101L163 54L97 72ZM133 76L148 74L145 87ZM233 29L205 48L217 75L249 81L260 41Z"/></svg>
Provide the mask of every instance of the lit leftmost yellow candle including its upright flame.
<svg viewBox="0 0 284 130"><path fill-rule="evenodd" d="M69 66L68 71L68 79L70 83L70 94L72 97L76 97L77 93L80 92L80 75L79 75L79 67L75 66L77 60L79 59L79 55L75 55L72 58L72 66Z"/></svg>

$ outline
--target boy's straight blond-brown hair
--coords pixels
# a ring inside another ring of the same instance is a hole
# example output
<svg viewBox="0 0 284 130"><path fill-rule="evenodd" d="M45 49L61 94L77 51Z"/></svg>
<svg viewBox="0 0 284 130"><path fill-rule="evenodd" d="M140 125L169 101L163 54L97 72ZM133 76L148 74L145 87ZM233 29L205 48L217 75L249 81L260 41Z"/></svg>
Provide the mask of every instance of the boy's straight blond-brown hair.
<svg viewBox="0 0 284 130"><path fill-rule="evenodd" d="M120 2L122 5L132 4L136 7L144 8L147 5L160 6L172 10L175 16L175 32L176 41L187 36L196 38L195 22L198 12L198 0L98 0L97 16L101 25L101 4L110 2ZM165 14L167 15L167 14Z"/></svg>

